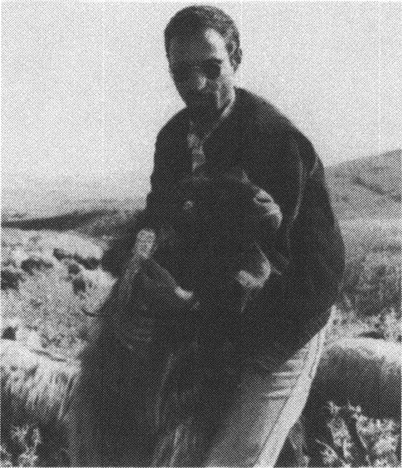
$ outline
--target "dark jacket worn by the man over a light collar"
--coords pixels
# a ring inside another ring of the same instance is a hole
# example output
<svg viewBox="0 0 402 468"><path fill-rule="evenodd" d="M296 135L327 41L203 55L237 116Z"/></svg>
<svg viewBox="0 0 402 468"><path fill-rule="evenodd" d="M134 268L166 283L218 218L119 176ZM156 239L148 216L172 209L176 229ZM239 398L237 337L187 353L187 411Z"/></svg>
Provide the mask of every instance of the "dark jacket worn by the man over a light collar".
<svg viewBox="0 0 402 468"><path fill-rule="evenodd" d="M188 125L183 109L158 135L147 198L147 212L153 213L149 224L162 222L174 185L191 172ZM328 321L344 269L344 245L322 163L286 117L243 89L236 89L232 112L204 144L204 153L208 171L240 165L283 213L275 246L281 274L271 276L246 311L243 344L251 351L261 350L268 340L279 348L298 348ZM263 239L262 244L269 248Z"/></svg>

